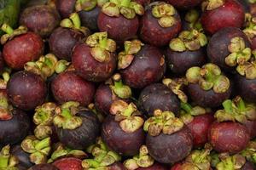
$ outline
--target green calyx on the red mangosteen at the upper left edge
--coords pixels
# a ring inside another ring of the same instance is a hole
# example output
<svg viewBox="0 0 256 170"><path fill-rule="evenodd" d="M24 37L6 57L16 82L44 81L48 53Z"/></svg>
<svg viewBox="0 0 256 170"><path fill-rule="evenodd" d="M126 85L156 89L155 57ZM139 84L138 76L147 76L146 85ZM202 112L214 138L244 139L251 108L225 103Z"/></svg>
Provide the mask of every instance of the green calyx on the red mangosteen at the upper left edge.
<svg viewBox="0 0 256 170"><path fill-rule="evenodd" d="M5 44L9 40L13 39L16 36L20 36L21 34L25 34L27 32L26 26L19 26L17 29L12 29L9 25L3 24L1 27L2 31L6 32L1 37L1 44Z"/></svg>

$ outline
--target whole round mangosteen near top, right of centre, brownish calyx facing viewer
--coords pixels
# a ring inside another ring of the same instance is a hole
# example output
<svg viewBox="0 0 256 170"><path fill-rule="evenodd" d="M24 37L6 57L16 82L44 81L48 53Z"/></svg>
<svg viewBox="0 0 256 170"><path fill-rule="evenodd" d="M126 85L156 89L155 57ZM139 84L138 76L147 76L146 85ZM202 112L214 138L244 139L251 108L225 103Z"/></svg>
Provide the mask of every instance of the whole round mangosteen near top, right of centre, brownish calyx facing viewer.
<svg viewBox="0 0 256 170"><path fill-rule="evenodd" d="M181 29L177 10L171 4L156 2L149 4L143 14L139 35L143 42L161 47L176 37Z"/></svg>

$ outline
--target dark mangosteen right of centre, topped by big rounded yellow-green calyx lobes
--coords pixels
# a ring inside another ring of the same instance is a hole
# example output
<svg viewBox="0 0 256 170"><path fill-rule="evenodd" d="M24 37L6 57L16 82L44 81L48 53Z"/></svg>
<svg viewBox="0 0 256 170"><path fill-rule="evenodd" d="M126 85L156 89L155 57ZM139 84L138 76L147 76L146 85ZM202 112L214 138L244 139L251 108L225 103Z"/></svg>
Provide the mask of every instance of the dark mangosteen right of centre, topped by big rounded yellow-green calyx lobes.
<svg viewBox="0 0 256 170"><path fill-rule="evenodd" d="M230 97L230 80L224 76L218 65L208 63L202 67L191 67L186 72L186 77L189 82L189 97L196 105L218 107Z"/></svg>

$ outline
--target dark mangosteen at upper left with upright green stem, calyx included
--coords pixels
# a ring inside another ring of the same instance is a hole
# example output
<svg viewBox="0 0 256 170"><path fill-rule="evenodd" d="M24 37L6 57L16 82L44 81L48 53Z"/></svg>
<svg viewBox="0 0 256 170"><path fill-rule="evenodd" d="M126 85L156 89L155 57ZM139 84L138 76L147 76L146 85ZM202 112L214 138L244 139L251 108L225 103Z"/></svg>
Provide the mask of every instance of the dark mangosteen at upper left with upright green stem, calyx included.
<svg viewBox="0 0 256 170"><path fill-rule="evenodd" d="M72 23L72 24L70 24ZM88 28L80 26L79 14L73 13L69 19L61 21L49 37L49 49L58 59L71 60L73 48L89 35Z"/></svg>

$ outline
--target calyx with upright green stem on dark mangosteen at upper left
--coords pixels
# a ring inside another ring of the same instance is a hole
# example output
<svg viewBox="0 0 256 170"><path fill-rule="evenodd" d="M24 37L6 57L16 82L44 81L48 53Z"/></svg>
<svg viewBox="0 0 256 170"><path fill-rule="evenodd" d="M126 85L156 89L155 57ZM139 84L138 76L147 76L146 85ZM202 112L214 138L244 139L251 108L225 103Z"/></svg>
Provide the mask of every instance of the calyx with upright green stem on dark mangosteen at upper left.
<svg viewBox="0 0 256 170"><path fill-rule="evenodd" d="M81 26L81 20L78 13L72 13L69 18L61 20L61 27L81 31L84 36L88 36L90 32L88 28Z"/></svg>

